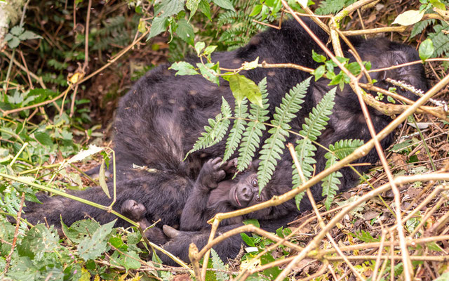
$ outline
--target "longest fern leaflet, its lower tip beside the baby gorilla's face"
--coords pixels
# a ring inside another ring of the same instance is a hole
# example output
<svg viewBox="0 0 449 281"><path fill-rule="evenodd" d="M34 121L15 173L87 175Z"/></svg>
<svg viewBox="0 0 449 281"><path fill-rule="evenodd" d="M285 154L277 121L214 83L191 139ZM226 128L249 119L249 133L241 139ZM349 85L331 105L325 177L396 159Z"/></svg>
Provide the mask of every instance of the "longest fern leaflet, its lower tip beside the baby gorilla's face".
<svg viewBox="0 0 449 281"><path fill-rule="evenodd" d="M303 98L307 92L310 84L310 79L304 80L301 84L293 87L286 96L282 98L279 107L276 107L273 119L271 121L274 126L269 129L269 138L265 141L260 151L260 164L257 169L257 178L259 179L259 190L267 185L272 178L274 167L277 160L281 159L282 150L285 147L284 142L289 136L288 130L290 125L288 123L295 118L296 113L301 109L301 104L304 103Z"/></svg>

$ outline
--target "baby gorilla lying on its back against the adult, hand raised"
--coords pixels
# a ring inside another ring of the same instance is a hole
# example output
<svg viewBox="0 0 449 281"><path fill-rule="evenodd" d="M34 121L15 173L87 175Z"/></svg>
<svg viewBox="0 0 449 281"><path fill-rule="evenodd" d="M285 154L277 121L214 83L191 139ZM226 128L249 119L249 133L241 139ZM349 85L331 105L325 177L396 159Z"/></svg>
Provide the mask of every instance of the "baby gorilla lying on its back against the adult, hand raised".
<svg viewBox="0 0 449 281"><path fill-rule="evenodd" d="M232 175L236 172L235 164L236 159L222 162L221 158L215 158L209 159L203 165L194 189L182 210L180 230L202 230L208 227L207 221L215 214L242 209L266 200L264 192L259 194L257 164L253 162L247 171L232 179ZM138 221L143 229L150 226L145 218L146 211L145 206L135 200L126 200L121 205L121 214L133 221ZM228 226L241 223L241 221L243 216L237 216L227 218L220 225ZM173 233L176 232L174 228L168 226L164 226L163 231L168 237L173 237ZM155 230L150 228L145 235L154 239L154 235L159 233L155 233Z"/></svg>

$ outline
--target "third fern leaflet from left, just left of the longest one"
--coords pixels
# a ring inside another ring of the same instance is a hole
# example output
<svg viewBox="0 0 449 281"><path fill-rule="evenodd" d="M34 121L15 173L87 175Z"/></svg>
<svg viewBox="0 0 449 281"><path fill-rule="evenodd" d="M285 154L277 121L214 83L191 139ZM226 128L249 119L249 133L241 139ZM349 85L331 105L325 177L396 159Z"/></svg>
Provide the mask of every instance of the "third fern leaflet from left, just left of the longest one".
<svg viewBox="0 0 449 281"><path fill-rule="evenodd" d="M250 122L246 127L246 131L243 132L243 138L239 148L239 158L237 159L237 170L244 171L248 168L251 160L254 157L256 148L259 147L260 137L262 137L262 131L265 131L267 127L263 124L269 117L268 114L268 92L267 92L267 78L262 79L262 81L257 84L262 94L262 105L259 107L253 103L250 104Z"/></svg>

